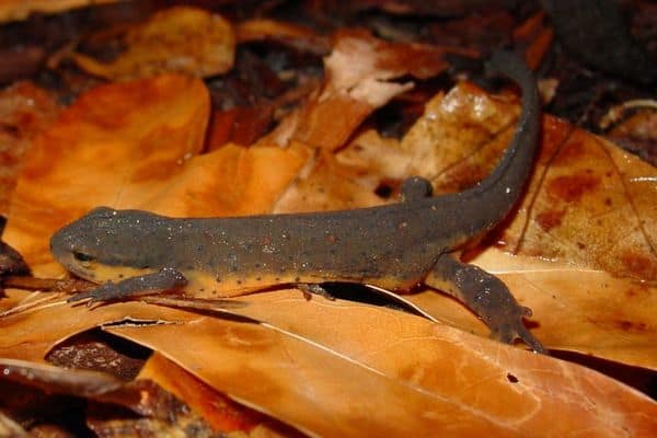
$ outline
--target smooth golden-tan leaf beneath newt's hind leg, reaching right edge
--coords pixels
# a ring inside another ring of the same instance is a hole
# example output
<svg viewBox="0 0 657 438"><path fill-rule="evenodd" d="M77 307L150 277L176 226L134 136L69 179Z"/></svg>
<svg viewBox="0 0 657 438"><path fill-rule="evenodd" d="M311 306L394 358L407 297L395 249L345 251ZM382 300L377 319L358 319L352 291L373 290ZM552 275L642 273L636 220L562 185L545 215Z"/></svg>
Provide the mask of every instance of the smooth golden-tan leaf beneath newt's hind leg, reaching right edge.
<svg viewBox="0 0 657 438"><path fill-rule="evenodd" d="M657 370L654 287L494 247L470 262L495 274L522 306L531 308L531 332L550 349ZM483 322L447 296L428 290L405 298L451 326L488 334Z"/></svg>

